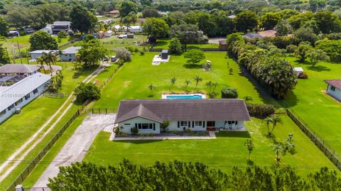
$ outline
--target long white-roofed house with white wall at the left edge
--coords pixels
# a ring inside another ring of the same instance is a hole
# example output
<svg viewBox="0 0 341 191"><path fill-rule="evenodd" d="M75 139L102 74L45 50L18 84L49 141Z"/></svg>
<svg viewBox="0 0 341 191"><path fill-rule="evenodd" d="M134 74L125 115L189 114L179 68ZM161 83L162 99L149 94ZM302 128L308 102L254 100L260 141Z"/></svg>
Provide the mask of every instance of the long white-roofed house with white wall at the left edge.
<svg viewBox="0 0 341 191"><path fill-rule="evenodd" d="M50 78L49 75L38 72L11 86L0 87L0 124L42 94L48 88Z"/></svg>

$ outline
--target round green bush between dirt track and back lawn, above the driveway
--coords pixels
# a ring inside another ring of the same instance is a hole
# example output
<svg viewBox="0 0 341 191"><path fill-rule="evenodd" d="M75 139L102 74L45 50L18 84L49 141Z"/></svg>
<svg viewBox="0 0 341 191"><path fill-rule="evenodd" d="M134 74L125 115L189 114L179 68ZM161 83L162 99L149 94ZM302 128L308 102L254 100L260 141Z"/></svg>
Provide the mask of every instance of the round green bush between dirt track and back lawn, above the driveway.
<svg viewBox="0 0 341 191"><path fill-rule="evenodd" d="M99 99L101 97L101 90L92 83L80 83L75 88L76 102L84 103L88 99Z"/></svg>

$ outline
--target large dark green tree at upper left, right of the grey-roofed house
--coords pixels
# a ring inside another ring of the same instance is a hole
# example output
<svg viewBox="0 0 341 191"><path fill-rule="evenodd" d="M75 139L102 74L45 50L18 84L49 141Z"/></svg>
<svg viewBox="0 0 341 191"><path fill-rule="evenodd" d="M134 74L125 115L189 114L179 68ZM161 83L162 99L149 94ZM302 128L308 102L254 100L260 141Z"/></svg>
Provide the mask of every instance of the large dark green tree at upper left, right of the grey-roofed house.
<svg viewBox="0 0 341 191"><path fill-rule="evenodd" d="M90 33L97 24L96 16L82 6L74 6L70 13L70 18L72 30L80 31L81 33Z"/></svg>

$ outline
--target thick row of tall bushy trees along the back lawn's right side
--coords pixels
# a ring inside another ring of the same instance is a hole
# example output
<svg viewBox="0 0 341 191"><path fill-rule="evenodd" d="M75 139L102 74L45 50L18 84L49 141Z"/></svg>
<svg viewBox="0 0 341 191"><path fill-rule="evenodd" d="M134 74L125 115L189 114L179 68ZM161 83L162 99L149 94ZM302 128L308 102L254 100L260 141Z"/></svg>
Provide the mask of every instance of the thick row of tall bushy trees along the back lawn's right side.
<svg viewBox="0 0 341 191"><path fill-rule="evenodd" d="M276 53L269 55L268 50L246 43L237 33L227 36L227 50L277 99L286 97L297 84L296 74L287 60Z"/></svg>

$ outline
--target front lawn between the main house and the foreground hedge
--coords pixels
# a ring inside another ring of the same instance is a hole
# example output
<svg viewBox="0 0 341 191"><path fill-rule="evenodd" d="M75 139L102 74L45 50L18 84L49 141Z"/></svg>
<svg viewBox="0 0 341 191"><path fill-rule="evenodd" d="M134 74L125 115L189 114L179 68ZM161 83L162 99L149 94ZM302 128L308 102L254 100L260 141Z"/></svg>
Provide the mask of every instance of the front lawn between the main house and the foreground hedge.
<svg viewBox="0 0 341 191"><path fill-rule="evenodd" d="M283 157L282 165L297 168L306 175L323 166L335 168L328 158L316 148L288 116L281 116L283 125L274 130L276 141L283 141L288 133L293 133L296 153ZM254 140L251 160L257 165L276 165L276 155L272 151L274 140L266 138L266 125L259 119L251 119L246 126L248 132L220 132L217 139L166 140L166 141L109 141L109 133L101 132L88 151L85 161L102 165L117 165L123 158L141 165L151 165L156 160L200 161L229 171L234 165L247 165L247 138Z"/></svg>

